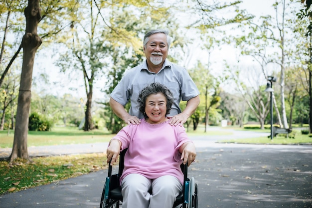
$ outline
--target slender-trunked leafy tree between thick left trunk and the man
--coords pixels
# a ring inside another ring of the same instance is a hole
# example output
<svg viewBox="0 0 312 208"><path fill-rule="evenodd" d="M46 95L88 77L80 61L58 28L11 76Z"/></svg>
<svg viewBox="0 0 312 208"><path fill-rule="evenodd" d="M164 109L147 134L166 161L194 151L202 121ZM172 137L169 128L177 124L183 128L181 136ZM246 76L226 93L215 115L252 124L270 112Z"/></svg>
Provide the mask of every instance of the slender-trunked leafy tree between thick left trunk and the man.
<svg viewBox="0 0 312 208"><path fill-rule="evenodd" d="M105 76L105 69L111 66L109 59L111 51L115 47L123 47L122 44L138 48L137 31L127 30L127 27L120 27L118 24L118 21L130 21L132 18L119 18L120 12L126 13L131 6L142 7L146 5L146 2L141 1L137 4L132 1L114 3L102 1L97 3L94 0L86 0L82 3L85 4L84 7L76 8L71 13L70 18L74 21L68 29L72 36L68 38L68 30L63 33L62 43L67 51L61 55L58 66L63 71L70 69L82 72L83 79L81 80L87 96L84 131L89 131L94 128L91 113L93 87L96 81ZM132 17L138 18L133 14Z"/></svg>

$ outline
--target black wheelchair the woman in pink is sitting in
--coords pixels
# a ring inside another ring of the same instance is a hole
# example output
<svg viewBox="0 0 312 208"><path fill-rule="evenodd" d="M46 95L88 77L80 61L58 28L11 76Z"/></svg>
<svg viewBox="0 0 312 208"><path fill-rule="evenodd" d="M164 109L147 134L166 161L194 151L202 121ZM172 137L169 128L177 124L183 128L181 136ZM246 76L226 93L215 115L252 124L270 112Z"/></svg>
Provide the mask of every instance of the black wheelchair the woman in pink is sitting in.
<svg viewBox="0 0 312 208"><path fill-rule="evenodd" d="M102 191L100 208L119 208L122 205L123 196L119 183L120 176L124 170L124 157L127 149L119 155L118 174L112 175L112 166L109 165L108 176ZM187 178L187 163L181 164L181 171L184 175L183 190L176 198L173 208L198 208L198 184L193 177Z"/></svg>

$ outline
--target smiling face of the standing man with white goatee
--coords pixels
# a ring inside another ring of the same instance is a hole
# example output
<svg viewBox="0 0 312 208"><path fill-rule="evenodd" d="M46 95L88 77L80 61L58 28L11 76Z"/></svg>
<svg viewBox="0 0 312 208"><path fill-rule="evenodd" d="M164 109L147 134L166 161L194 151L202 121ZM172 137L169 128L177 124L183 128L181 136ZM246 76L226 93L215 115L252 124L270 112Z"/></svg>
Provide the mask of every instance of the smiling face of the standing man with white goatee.
<svg viewBox="0 0 312 208"><path fill-rule="evenodd" d="M148 64L161 65L168 55L167 36L156 33L149 37L149 41L143 48Z"/></svg>

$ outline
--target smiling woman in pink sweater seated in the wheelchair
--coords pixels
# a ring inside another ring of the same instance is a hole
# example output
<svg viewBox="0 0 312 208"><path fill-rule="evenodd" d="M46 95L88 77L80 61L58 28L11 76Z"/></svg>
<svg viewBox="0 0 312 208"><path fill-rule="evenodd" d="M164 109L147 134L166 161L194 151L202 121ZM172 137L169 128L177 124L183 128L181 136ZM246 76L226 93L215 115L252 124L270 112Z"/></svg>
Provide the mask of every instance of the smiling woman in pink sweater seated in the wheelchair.
<svg viewBox="0 0 312 208"><path fill-rule="evenodd" d="M107 162L116 163L120 151L128 148L121 176L123 208L172 208L183 189L180 164L195 160L195 146L183 126L169 124L173 95L166 86L148 85L138 102L145 118L111 139Z"/></svg>

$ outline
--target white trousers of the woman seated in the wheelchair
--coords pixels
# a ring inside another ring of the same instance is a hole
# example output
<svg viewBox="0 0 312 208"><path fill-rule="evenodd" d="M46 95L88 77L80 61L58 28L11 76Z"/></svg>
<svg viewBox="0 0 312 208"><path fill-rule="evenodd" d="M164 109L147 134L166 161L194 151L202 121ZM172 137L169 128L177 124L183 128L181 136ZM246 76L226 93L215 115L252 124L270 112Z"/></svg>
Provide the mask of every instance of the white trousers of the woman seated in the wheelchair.
<svg viewBox="0 0 312 208"><path fill-rule="evenodd" d="M174 176L151 180L140 174L129 174L123 179L121 188L123 208L172 208L183 186Z"/></svg>

